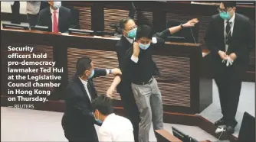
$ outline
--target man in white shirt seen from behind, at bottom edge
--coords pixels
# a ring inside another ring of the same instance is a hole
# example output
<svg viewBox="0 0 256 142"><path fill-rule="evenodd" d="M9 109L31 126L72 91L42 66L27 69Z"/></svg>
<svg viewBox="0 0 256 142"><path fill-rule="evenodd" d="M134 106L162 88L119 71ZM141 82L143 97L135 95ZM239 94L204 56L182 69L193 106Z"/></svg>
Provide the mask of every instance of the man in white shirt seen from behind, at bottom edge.
<svg viewBox="0 0 256 142"><path fill-rule="evenodd" d="M99 141L134 141L133 124L127 118L115 115L111 98L100 95L92 102L96 120L103 121Z"/></svg>

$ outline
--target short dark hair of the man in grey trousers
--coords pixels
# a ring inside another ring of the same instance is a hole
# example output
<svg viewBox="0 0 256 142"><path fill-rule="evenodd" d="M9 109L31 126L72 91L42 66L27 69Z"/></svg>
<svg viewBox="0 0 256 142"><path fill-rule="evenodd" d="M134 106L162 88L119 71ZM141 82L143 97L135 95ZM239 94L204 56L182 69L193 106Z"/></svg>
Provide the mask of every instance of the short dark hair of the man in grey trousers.
<svg viewBox="0 0 256 142"><path fill-rule="evenodd" d="M149 39L152 39L153 31L152 31L151 27L149 27L146 24L139 26L136 31L136 40L139 40L141 37L147 37Z"/></svg>

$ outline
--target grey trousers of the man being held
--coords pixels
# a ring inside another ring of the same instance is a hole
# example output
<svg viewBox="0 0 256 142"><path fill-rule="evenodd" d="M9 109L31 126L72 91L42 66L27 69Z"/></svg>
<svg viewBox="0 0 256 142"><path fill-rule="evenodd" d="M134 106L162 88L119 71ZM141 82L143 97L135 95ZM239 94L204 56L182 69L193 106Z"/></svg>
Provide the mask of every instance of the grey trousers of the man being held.
<svg viewBox="0 0 256 142"><path fill-rule="evenodd" d="M156 79L150 84L139 86L132 83L133 95L139 108L139 142L149 142L149 130L153 122L154 130L163 129L162 96Z"/></svg>

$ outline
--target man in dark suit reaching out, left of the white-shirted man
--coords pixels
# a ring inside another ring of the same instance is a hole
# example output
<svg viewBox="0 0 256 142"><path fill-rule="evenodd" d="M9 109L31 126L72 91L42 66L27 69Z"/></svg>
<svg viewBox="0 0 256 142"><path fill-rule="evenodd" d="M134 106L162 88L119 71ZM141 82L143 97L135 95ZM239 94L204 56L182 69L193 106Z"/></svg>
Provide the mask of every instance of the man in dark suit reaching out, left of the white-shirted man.
<svg viewBox="0 0 256 142"><path fill-rule="evenodd" d="M120 69L94 69L88 57L77 60L76 75L69 83L65 94L65 111L62 118L64 134L69 141L98 141L91 102L96 98L93 78L108 74L121 74Z"/></svg>

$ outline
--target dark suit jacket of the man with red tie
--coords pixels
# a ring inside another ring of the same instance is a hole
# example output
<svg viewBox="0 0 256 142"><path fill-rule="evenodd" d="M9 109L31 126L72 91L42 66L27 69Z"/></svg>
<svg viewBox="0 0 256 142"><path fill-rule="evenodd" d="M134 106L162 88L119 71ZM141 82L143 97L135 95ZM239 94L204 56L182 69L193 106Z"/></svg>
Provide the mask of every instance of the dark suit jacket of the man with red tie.
<svg viewBox="0 0 256 142"><path fill-rule="evenodd" d="M71 16L71 10L69 8L65 8L64 6L61 6L59 10L58 30L61 33L64 33L68 31L68 28L76 28L76 24L72 24L72 21L74 21L72 19L73 18ZM44 8L39 12L38 25L47 26L49 28L49 31L52 31L50 6Z"/></svg>

